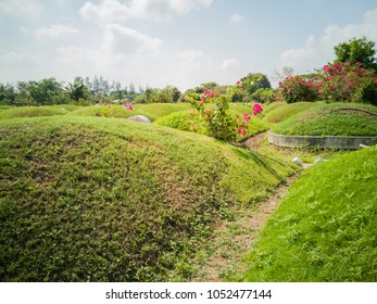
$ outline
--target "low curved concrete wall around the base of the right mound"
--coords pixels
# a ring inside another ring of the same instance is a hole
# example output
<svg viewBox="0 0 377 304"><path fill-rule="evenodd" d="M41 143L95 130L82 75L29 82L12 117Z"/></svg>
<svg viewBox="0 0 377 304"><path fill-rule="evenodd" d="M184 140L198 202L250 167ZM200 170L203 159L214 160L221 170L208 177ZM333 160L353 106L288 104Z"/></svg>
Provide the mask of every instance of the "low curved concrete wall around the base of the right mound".
<svg viewBox="0 0 377 304"><path fill-rule="evenodd" d="M376 136L286 136L268 132L268 142L287 148L357 150L360 144L377 144Z"/></svg>

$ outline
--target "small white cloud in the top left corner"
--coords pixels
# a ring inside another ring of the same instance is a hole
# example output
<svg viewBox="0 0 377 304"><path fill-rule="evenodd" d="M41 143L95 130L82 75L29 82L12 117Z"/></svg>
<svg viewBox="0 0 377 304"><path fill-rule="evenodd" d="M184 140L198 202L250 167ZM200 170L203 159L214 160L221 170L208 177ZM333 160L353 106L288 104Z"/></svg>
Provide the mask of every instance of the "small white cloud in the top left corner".
<svg viewBox="0 0 377 304"><path fill-rule="evenodd" d="M0 1L0 17L15 16L21 18L37 18L42 12L42 7L39 3L30 3L28 0L1 0Z"/></svg>

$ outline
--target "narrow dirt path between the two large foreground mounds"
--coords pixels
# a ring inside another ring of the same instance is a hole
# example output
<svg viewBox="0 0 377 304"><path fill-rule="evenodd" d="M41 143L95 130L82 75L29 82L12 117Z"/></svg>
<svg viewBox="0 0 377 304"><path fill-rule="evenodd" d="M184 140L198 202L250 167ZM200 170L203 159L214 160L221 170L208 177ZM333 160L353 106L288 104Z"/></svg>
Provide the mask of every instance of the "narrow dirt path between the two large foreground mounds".
<svg viewBox="0 0 377 304"><path fill-rule="evenodd" d="M241 274L244 256L255 243L257 233L267 217L276 210L278 202L287 193L288 187L298 178L289 177L276 191L254 210L240 207L236 220L217 227L214 238L200 257L198 274L193 281L216 282L226 276Z"/></svg>

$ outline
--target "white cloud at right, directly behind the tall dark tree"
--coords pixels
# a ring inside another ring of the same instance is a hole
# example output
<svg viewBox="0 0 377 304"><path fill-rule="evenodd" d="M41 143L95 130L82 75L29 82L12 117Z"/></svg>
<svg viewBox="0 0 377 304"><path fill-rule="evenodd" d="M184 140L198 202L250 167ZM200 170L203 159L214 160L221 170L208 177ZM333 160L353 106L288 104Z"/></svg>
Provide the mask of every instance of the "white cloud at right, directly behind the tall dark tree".
<svg viewBox="0 0 377 304"><path fill-rule="evenodd" d="M299 73L313 71L334 59L335 46L362 36L377 42L377 10L366 12L360 24L330 25L318 39L311 35L303 47L281 54L280 66L292 66Z"/></svg>

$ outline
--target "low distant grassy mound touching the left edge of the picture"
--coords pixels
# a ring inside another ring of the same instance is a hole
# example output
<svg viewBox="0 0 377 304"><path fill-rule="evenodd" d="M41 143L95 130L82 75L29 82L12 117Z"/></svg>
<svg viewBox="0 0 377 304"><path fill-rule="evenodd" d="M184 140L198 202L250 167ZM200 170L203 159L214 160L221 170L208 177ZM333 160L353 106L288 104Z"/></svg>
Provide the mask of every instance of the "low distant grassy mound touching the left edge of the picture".
<svg viewBox="0 0 377 304"><path fill-rule="evenodd" d="M0 119L65 115L67 111L50 106L17 106L0 111Z"/></svg>

